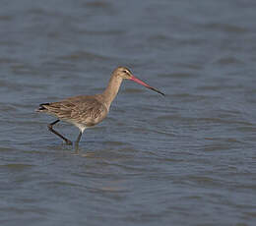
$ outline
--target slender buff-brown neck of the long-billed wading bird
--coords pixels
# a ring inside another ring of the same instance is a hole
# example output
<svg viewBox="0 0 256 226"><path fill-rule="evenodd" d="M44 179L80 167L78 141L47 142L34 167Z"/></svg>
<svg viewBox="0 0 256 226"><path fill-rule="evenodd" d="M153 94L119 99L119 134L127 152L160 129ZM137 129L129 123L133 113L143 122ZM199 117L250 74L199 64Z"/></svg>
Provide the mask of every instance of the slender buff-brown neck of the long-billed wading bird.
<svg viewBox="0 0 256 226"><path fill-rule="evenodd" d="M122 84L122 81L123 81L122 78L112 74L108 82L108 85L106 86L105 90L102 93L107 109L109 109L112 101L117 95L119 87Z"/></svg>

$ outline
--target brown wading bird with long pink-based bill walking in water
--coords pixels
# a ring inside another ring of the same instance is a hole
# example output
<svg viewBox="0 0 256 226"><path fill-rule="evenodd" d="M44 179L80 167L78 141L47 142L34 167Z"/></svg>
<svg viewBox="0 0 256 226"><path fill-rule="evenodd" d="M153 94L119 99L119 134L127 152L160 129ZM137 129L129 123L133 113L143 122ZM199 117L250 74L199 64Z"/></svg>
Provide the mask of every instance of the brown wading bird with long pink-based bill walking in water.
<svg viewBox="0 0 256 226"><path fill-rule="evenodd" d="M43 112L57 118L56 121L48 124L48 129L67 144L72 144L72 141L69 141L55 131L53 126L59 121L65 121L78 127L80 130L76 140L76 145L78 146L85 129L96 126L96 124L100 123L106 117L123 80L134 81L137 84L144 85L164 95L157 88L137 79L128 68L118 67L113 71L108 85L102 93L96 95L78 95L59 102L42 103L36 109L36 112Z"/></svg>

